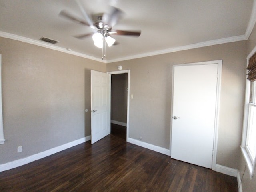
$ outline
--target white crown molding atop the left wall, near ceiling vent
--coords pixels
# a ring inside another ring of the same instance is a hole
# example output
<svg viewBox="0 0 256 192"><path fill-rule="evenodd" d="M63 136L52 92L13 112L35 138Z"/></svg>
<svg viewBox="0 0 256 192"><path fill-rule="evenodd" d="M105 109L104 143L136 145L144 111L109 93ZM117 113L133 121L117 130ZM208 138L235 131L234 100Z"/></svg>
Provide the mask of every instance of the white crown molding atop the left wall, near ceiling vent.
<svg viewBox="0 0 256 192"><path fill-rule="evenodd" d="M48 44L48 43L44 43L44 42L41 42L41 41L38 41L38 40L33 40L33 39L30 39L30 38L26 38L26 37L22 37L22 36L10 34L10 33L2 32L2 31L0 31L0 37L9 38L9 39L13 39L13 40L18 40L18 41L22 41L22 42L25 42L25 43L41 46L41 47L44 47L44 48L48 48L48 49L64 52L64 53L67 53L67 54L83 57L83 58L86 58L86 59L106 63L106 60L102 60L102 59L92 57L92 56L89 56L89 55L86 55L86 54L82 54L82 53L79 53L79 52L75 52L75 51L72 51L72 50L69 51L69 50L66 50L65 48L57 47L57 46L54 46L54 45L51 45L51 44Z"/></svg>

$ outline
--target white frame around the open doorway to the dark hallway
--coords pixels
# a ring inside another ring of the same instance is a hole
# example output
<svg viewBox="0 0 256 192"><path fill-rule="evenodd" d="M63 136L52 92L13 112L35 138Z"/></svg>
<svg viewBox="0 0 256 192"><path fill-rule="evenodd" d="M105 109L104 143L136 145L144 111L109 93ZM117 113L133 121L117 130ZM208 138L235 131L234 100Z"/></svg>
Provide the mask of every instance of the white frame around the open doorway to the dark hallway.
<svg viewBox="0 0 256 192"><path fill-rule="evenodd" d="M107 72L110 75L114 74L123 74L127 73L128 74L128 84L127 84L127 120L126 120L126 142L128 142L128 137L129 137L129 108L130 108L130 70L122 70L122 71L110 71ZM111 78L111 76L110 76ZM111 99L111 79L110 79L110 87L109 87L109 98ZM110 117L111 118L111 117Z"/></svg>

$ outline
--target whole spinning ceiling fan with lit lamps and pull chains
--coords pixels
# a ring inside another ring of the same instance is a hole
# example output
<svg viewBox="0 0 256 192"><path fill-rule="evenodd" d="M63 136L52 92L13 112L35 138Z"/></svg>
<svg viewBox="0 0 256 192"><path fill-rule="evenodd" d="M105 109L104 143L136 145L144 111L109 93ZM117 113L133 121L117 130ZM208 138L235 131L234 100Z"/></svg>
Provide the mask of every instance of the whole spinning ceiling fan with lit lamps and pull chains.
<svg viewBox="0 0 256 192"><path fill-rule="evenodd" d="M134 37L140 36L141 34L140 30L124 31L124 30L112 29L112 27L117 24L118 20L122 18L123 16L122 10L116 7L110 6L110 10L107 13L96 14L94 15L94 17L96 16L96 19L92 20L92 18L86 13L80 1L77 0L76 2L84 16L84 19L80 19L77 16L74 16L67 10L62 10L59 15L69 20L72 20L76 23L89 26L94 30L94 32L76 35L74 37L78 39L83 39L83 38L92 36L94 45L98 48L102 48L102 60L106 57L106 44L109 47L112 46L113 44L118 44L116 40L112 37L112 35L126 35L126 36L134 36Z"/></svg>

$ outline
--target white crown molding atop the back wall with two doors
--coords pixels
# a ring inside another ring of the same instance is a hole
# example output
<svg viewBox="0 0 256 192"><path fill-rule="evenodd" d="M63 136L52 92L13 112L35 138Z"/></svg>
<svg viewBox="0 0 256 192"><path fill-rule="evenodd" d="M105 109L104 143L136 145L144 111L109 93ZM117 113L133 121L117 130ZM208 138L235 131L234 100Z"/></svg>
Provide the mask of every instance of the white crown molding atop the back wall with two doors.
<svg viewBox="0 0 256 192"><path fill-rule="evenodd" d="M138 58L149 57L149 56L154 56L154 55L184 51L184 50L195 49L195 48L201 48L201 47L206 47L206 46L212 46L212 45L218 45L218 44L224 44L224 43L230 43L230 42L236 42L236 41L243 41L243 40L247 40L247 39L248 38L245 35L222 38L222 39L211 40L211 41L190 44L190 45L185 45L185 46L179 46L179 47L174 47L174 48L168 48L168 49L164 49L164 50L148 52L148 53L123 57L123 58L107 60L107 63L119 62L119 61L124 61L124 60L131 60L131 59L138 59Z"/></svg>

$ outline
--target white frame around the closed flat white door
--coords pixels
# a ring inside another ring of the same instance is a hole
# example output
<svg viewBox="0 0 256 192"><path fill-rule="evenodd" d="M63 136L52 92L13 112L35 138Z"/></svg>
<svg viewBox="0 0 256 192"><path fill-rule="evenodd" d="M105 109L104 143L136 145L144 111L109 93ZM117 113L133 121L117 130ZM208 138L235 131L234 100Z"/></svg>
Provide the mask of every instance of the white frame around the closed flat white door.
<svg viewBox="0 0 256 192"><path fill-rule="evenodd" d="M217 145L218 145L218 128L219 128L219 112L220 112L220 84L222 73L222 60L196 62L188 64L180 64L172 66L172 107L171 116L173 116L173 94L174 94L174 67L175 66L189 66L189 65L205 65L205 64L218 64L217 74L217 90L216 90L216 111L214 121L214 141L213 141L213 154L212 154L212 170L216 170L216 158L217 158ZM172 118L171 118L171 130L170 130L170 155L171 155L171 139L172 139Z"/></svg>

